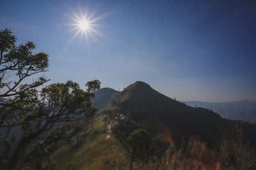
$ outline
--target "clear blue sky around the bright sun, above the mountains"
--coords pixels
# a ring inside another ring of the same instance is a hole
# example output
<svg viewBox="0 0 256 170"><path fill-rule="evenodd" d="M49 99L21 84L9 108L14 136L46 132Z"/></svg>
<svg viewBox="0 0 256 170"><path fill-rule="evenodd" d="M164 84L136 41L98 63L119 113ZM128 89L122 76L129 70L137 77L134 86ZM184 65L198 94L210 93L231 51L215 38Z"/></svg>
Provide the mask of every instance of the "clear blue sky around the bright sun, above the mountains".
<svg viewBox="0 0 256 170"><path fill-rule="evenodd" d="M70 17L86 7L97 32L72 39ZM140 80L183 101L256 101L255 9L249 0L1 0L0 29L49 54L51 82L118 90Z"/></svg>

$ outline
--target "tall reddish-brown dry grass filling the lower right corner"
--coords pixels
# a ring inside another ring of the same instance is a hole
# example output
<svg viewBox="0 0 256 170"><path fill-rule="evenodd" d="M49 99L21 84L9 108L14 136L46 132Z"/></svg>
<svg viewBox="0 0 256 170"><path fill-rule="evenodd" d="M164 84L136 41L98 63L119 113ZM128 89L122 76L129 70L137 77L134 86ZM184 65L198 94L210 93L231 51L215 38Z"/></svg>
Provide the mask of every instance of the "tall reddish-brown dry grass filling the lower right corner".
<svg viewBox="0 0 256 170"><path fill-rule="evenodd" d="M163 159L142 169L250 170L256 169L256 151L243 143L243 129L236 124L221 129L215 152L193 137L186 147L177 152L169 148Z"/></svg>

